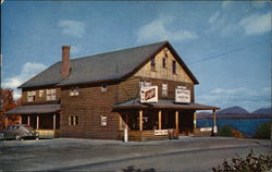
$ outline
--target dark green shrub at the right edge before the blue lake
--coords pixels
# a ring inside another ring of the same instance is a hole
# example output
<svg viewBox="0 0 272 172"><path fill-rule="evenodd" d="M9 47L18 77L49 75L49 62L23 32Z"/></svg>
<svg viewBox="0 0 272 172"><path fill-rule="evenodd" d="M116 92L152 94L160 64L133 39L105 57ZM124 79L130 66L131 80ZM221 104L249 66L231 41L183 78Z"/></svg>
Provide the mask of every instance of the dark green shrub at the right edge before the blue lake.
<svg viewBox="0 0 272 172"><path fill-rule="evenodd" d="M271 137L271 122L260 124L255 131L254 137L260 139L270 139Z"/></svg>

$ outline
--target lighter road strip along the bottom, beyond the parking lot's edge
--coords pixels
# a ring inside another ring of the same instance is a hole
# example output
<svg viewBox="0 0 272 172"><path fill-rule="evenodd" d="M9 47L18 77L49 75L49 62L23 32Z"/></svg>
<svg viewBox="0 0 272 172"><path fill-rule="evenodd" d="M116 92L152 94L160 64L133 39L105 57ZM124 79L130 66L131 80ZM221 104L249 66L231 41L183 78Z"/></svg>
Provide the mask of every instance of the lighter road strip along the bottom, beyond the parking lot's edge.
<svg viewBox="0 0 272 172"><path fill-rule="evenodd" d="M136 172L136 171L177 171L177 172L211 172L212 167L217 167L227 158L232 158L238 153L245 157L252 147L235 147L235 148L215 148L202 150L178 151L166 155L147 156L140 158L132 158L120 161L110 161L102 163L94 163L78 165L73 168L64 168L67 171L118 171L118 172ZM258 153L267 153L268 147L257 146L254 151Z"/></svg>

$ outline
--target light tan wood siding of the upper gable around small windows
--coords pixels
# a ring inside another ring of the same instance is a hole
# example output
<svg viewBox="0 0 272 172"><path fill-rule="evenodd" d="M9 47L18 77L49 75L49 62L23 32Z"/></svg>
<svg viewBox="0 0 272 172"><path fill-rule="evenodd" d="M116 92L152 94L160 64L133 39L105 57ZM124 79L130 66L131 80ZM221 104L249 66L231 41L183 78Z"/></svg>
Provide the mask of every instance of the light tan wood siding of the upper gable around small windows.
<svg viewBox="0 0 272 172"><path fill-rule="evenodd" d="M168 51L169 51L169 49L164 48L162 51L160 51L156 56L156 59L154 59L156 71L151 71L151 62L149 61L134 76L158 78L158 79L168 79L168 81L175 81L175 82L183 82L183 83L193 84L194 82L190 79L190 77L187 75L187 73L184 71L184 69L177 62L176 62L176 74L172 73L172 61L175 60L175 58L173 57L173 54L171 52L166 53ZM165 57L165 54L168 54L166 69L163 69L162 67L162 59L163 59L163 57Z"/></svg>

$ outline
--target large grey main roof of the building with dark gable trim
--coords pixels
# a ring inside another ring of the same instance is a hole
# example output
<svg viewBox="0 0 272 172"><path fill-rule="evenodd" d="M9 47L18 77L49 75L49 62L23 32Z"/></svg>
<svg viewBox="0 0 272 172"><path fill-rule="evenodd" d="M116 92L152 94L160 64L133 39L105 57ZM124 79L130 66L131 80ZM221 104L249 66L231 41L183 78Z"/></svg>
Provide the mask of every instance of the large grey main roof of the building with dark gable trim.
<svg viewBox="0 0 272 172"><path fill-rule="evenodd" d="M25 82L20 88L49 85L65 86L125 79L141 69L151 57L154 57L165 47L171 50L194 84L198 84L197 78L193 75L169 41L162 41L78 59L71 59L71 73L63 79L61 78L60 73L60 61Z"/></svg>

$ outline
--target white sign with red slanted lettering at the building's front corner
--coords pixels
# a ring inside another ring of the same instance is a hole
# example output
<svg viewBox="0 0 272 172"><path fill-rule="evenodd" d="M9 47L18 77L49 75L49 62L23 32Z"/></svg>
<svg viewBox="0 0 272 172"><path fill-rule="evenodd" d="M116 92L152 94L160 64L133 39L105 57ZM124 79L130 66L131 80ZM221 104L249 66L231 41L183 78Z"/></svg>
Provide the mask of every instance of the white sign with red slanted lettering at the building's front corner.
<svg viewBox="0 0 272 172"><path fill-rule="evenodd" d="M141 87L140 102L158 102L158 86Z"/></svg>

